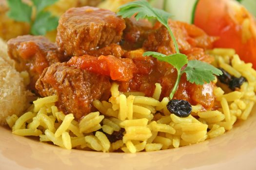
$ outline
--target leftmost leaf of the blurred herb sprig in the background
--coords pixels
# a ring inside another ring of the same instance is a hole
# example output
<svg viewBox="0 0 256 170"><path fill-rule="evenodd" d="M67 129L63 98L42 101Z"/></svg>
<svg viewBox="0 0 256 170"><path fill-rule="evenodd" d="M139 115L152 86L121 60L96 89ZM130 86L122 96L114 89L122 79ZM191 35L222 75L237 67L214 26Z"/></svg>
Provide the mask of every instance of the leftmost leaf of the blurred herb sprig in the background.
<svg viewBox="0 0 256 170"><path fill-rule="evenodd" d="M7 0L9 11L7 16L21 22L31 22L32 7L21 0Z"/></svg>

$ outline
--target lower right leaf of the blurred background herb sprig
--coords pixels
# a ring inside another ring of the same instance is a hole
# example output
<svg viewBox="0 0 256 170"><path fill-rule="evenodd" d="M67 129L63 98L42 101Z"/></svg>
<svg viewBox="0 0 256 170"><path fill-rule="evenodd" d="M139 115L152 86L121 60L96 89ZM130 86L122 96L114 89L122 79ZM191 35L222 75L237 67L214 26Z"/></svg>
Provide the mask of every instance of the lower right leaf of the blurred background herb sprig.
<svg viewBox="0 0 256 170"><path fill-rule="evenodd" d="M34 35L45 35L47 31L55 30L58 26L59 18L51 13L41 11L32 25L31 33Z"/></svg>

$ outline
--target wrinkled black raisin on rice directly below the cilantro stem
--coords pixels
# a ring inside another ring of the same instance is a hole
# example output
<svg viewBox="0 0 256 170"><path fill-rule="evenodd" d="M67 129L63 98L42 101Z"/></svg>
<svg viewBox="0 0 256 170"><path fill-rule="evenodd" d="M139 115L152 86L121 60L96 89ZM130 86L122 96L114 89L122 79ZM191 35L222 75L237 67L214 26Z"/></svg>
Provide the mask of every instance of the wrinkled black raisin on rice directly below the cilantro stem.
<svg viewBox="0 0 256 170"><path fill-rule="evenodd" d="M191 104L184 100L171 100L167 104L167 109L180 118L186 118L192 112Z"/></svg>

